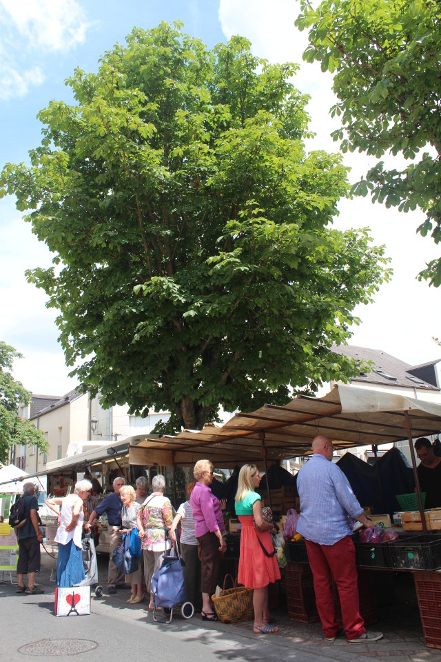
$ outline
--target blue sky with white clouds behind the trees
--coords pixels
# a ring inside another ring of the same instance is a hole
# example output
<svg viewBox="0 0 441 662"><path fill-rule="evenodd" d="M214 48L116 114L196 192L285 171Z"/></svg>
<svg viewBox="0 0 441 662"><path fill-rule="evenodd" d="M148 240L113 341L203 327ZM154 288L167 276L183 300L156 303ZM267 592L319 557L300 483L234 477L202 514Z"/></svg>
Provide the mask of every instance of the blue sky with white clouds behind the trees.
<svg viewBox="0 0 441 662"><path fill-rule="evenodd" d="M134 26L151 28L160 21L182 20L185 32L208 46L243 34L254 52L270 61L301 62L306 35L294 26L294 0L0 0L0 167L28 160L39 145L37 113L51 99L71 101L64 84L74 68L94 71L98 59L116 41L124 43ZM311 94L309 113L316 139L309 148L336 151L330 138L336 123L331 78L319 66L302 64L296 86ZM349 154L351 179L375 160ZM438 255L431 239L416 235L419 212L399 214L369 199L342 201L336 227L368 225L376 243L387 245L393 282L384 285L376 303L357 310L362 319L352 343L382 349L412 364L441 357L431 340L440 336L441 292L418 283L424 262ZM25 281L24 271L48 265L51 256L21 220L14 200L0 200L0 339L24 358L14 376L36 393L63 394L74 388L57 343L57 312L45 308L45 294Z"/></svg>

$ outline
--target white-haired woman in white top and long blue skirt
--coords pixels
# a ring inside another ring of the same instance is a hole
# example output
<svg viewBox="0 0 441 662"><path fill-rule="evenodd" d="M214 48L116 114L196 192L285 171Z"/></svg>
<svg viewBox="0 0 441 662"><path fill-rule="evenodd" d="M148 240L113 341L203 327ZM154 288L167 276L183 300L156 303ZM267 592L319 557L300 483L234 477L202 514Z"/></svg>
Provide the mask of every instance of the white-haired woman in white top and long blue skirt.
<svg viewBox="0 0 441 662"><path fill-rule="evenodd" d="M54 496L46 499L45 504L57 513L58 529L54 538L58 543L57 573L55 583L61 588L69 588L79 584L84 578L83 547L81 536L83 532L83 499L92 490L90 481L79 481L73 494L64 497ZM56 508L61 505L61 512Z"/></svg>

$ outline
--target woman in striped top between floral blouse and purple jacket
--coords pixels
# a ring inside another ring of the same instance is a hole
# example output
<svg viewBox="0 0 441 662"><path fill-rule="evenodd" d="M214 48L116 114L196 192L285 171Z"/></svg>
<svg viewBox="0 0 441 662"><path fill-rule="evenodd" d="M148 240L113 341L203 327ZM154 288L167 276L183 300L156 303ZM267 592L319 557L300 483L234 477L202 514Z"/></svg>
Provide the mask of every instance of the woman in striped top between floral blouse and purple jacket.
<svg viewBox="0 0 441 662"><path fill-rule="evenodd" d="M196 483L186 485L188 496ZM198 541L194 535L194 517L189 500L181 503L170 529L170 538L176 542L176 527L181 522L181 554L185 565L183 566L185 599L191 602L195 612L201 612L201 561L198 559Z"/></svg>

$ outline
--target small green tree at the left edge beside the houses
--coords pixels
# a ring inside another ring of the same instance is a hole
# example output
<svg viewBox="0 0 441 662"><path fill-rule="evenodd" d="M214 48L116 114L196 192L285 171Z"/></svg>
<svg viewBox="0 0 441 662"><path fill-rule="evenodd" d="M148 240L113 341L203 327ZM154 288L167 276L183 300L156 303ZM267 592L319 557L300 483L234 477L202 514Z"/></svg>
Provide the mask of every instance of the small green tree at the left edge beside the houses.
<svg viewBox="0 0 441 662"><path fill-rule="evenodd" d="M34 445L46 452L48 442L40 430L26 419L19 417L19 405L28 405L32 394L12 377L12 363L21 354L0 341L0 462L8 461L13 445Z"/></svg>

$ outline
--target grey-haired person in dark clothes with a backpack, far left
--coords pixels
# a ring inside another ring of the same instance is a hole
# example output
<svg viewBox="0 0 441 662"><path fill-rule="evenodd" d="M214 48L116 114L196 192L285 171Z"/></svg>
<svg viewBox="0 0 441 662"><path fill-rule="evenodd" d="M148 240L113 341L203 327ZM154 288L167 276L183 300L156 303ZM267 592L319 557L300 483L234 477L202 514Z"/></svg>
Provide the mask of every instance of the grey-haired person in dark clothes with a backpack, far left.
<svg viewBox="0 0 441 662"><path fill-rule="evenodd" d="M40 572L40 543L43 536L39 528L37 513L39 503L35 496L34 483L23 485L24 519L17 525L19 560L17 562L17 593L37 595L44 593L35 583L35 573ZM23 574L28 574L28 586L23 583Z"/></svg>

